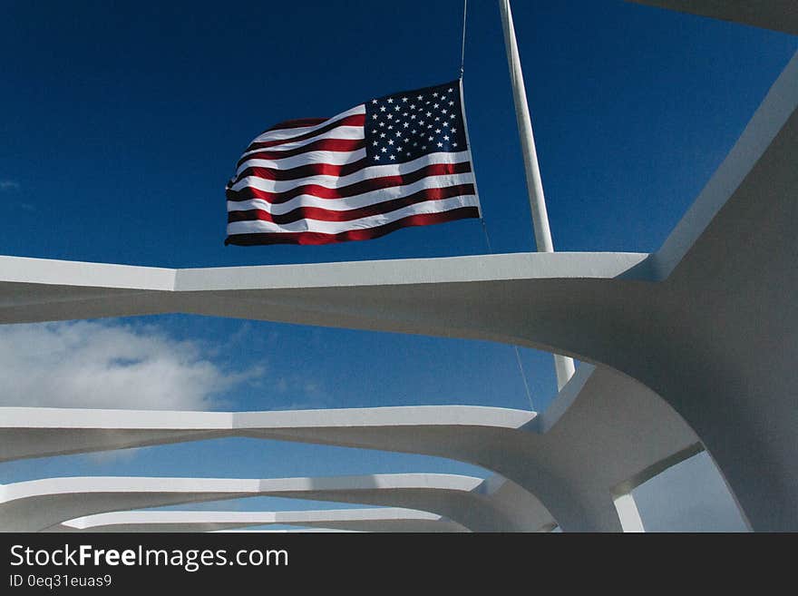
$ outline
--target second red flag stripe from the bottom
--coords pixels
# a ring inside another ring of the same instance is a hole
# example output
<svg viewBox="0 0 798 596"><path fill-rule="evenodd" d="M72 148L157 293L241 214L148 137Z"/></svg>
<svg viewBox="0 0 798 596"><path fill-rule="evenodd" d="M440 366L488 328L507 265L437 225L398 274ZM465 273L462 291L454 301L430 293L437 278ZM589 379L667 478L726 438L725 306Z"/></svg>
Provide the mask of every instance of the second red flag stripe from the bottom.
<svg viewBox="0 0 798 596"><path fill-rule="evenodd" d="M233 221L271 221L280 225L291 223L298 220L317 220L317 221L351 221L360 218L370 217L390 213L424 200L443 200L463 195L474 195L472 184L458 184L457 186L447 186L443 189L426 189L414 192L413 194L399 199L384 200L381 203L368 205L345 211L323 209L321 207L297 207L287 213L273 214L262 209L250 209L245 211L230 211L228 213L228 223Z"/></svg>

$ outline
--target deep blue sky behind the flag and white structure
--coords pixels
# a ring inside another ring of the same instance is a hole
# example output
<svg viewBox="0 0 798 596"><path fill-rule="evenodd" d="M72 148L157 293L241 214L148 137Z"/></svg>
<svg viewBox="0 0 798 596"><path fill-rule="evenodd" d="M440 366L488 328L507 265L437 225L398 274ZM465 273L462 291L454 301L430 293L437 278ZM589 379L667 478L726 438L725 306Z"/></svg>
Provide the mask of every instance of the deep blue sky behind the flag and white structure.
<svg viewBox="0 0 798 596"><path fill-rule="evenodd" d="M517 1L514 11L558 250L656 250L798 48L789 35L611 0ZM0 254L183 268L487 251L475 220L319 247L223 246L224 184L251 138L275 122L453 79L459 0L5 0L0 15ZM530 250L492 0L469 5L463 88L492 248ZM556 392L550 356L521 357L543 409ZM122 376L119 358L140 362L141 374ZM3 327L0 366L5 405L529 407L511 347L180 315ZM153 371L168 372L157 386ZM434 458L241 439L2 464L0 482L375 472L487 474ZM690 474L668 485L703 477ZM706 501L722 500L715 484L702 486ZM723 518L728 527L733 517Z"/></svg>

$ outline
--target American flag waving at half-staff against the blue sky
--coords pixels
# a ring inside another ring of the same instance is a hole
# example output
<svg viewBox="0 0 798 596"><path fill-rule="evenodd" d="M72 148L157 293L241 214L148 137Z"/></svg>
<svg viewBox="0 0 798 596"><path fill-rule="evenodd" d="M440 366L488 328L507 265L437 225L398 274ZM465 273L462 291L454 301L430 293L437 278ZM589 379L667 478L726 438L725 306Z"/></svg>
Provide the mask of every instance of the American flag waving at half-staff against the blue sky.
<svg viewBox="0 0 798 596"><path fill-rule="evenodd" d="M280 122L228 182L225 244L327 244L479 218L460 81Z"/></svg>

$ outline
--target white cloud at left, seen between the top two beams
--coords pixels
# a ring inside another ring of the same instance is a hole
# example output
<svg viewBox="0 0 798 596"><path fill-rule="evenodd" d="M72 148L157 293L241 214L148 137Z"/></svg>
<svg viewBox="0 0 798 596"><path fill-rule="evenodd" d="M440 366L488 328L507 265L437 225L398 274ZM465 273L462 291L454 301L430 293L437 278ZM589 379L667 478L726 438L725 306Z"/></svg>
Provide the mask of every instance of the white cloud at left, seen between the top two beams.
<svg viewBox="0 0 798 596"><path fill-rule="evenodd" d="M0 327L0 405L207 410L261 374L224 370L207 349L157 327Z"/></svg>

